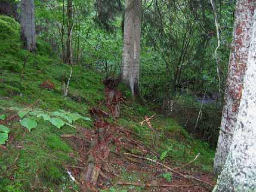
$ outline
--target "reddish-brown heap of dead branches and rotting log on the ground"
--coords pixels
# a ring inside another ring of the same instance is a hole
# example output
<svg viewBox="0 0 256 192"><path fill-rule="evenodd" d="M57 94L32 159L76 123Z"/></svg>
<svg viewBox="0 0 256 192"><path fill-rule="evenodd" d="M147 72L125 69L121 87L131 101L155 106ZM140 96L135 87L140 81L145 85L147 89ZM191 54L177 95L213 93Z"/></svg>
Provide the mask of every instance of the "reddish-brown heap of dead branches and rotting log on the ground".
<svg viewBox="0 0 256 192"><path fill-rule="evenodd" d="M120 181L117 182L119 185L172 188L191 188L195 185L200 185L207 190L211 190L213 185L209 182L178 171L178 169L189 165L193 161L179 168L171 168L159 160L158 153L152 147L136 139L139 135L135 134L135 132L116 123L107 122L106 119L110 116L114 119L120 116L120 112L116 111L119 110L118 106L123 101L124 98L119 91L106 88L106 100L91 108L91 115L95 117L94 129L79 128L77 135L63 135L64 138L71 141L79 154L79 157L70 154L79 162L79 166L66 166L66 169L72 174L75 182L81 186L81 191L98 191L98 188L110 187L113 179L116 180L120 177L121 169L119 168L127 166L132 166L137 171L150 171L150 174L153 175L159 174L159 171L171 172L173 177L183 179L185 184L170 185L155 182L144 184ZM100 106L103 104L107 106L109 113L101 109ZM119 116L116 115L117 113ZM145 117L143 122L146 122L152 132L155 132L150 123L152 118ZM140 152L134 154L132 153L134 150ZM150 159L148 156L153 158Z"/></svg>

